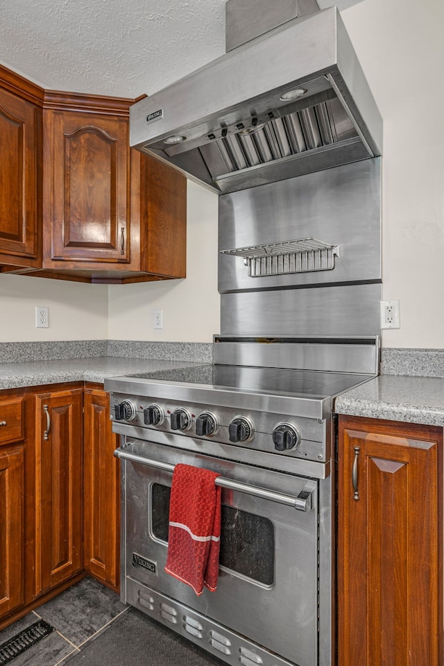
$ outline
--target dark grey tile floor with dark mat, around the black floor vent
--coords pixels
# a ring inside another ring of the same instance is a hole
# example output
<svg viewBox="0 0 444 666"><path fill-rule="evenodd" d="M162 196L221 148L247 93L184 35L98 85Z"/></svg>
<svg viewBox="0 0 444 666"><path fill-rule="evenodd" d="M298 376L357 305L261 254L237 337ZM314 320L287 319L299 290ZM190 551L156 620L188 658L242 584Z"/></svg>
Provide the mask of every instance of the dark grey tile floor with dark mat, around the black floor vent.
<svg viewBox="0 0 444 666"><path fill-rule="evenodd" d="M84 578L0 631L0 644L37 622L56 631L10 666L226 666L191 642L125 606L117 594Z"/></svg>

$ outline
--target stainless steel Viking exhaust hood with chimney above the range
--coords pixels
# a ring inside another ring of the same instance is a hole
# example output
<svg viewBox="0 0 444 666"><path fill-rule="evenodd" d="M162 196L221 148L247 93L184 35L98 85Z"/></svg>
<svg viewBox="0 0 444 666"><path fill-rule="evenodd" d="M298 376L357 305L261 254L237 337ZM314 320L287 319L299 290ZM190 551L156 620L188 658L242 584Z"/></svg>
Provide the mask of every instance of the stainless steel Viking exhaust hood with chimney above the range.
<svg viewBox="0 0 444 666"><path fill-rule="evenodd" d="M252 17L264 20L261 4L268 15L279 5L296 10L238 46L242 16L250 35ZM271 4L228 1L231 50L135 103L132 147L219 194L381 155L382 119L337 8Z"/></svg>

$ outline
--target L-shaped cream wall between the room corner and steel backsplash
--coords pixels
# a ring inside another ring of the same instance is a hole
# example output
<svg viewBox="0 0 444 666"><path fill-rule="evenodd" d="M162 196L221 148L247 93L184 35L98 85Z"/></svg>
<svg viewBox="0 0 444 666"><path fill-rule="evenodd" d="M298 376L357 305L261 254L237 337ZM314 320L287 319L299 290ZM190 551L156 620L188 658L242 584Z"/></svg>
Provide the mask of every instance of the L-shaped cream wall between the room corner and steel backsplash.
<svg viewBox="0 0 444 666"><path fill-rule="evenodd" d="M110 285L110 340L212 342L220 330L217 291L218 197L192 181L187 187L187 278ZM163 310L163 328L153 328Z"/></svg>

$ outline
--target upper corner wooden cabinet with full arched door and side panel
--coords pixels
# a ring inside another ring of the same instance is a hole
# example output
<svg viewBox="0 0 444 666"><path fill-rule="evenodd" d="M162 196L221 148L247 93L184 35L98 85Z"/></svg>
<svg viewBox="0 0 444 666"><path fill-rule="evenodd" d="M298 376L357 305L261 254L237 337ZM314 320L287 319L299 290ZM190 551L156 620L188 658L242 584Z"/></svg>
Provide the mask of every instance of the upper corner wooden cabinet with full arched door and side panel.
<svg viewBox="0 0 444 666"><path fill-rule="evenodd" d="M91 282L185 277L186 178L130 150L131 102L46 92L43 269Z"/></svg>

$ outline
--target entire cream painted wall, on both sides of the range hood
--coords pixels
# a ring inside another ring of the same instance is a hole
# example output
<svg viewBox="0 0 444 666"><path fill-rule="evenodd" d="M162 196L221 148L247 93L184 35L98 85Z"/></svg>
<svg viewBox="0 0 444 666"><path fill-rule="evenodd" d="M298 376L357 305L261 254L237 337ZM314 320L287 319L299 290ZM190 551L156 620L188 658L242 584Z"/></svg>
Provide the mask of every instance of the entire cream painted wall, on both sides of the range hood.
<svg viewBox="0 0 444 666"><path fill-rule="evenodd" d="M384 119L383 297L400 299L401 328L382 343L444 348L444 2L364 0L342 17ZM185 281L0 276L0 340L106 338L108 321L110 339L210 342L220 330L216 220L216 195L189 183ZM46 331L33 327L34 305L51 308Z"/></svg>

